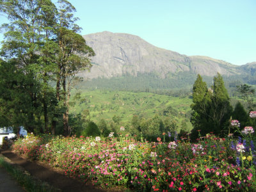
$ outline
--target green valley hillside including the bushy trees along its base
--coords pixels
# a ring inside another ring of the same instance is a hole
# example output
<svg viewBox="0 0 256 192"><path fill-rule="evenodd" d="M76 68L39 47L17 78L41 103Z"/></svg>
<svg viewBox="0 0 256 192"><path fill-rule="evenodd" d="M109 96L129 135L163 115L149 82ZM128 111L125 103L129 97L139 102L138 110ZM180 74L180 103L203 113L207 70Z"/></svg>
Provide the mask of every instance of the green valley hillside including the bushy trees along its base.
<svg viewBox="0 0 256 192"><path fill-rule="evenodd" d="M74 106L70 112L79 114L84 110L90 111L90 120L99 128L106 127L101 122L104 119L108 130L104 136L108 136L109 132L119 132L121 126L125 126L132 135L140 135L140 132L145 136L157 134L155 138L163 132L179 132L182 127L190 131L192 128L188 121L191 104L188 97L179 99L153 93L101 90L79 91L79 95L79 100L77 97L71 99ZM100 132L103 133L102 129Z"/></svg>

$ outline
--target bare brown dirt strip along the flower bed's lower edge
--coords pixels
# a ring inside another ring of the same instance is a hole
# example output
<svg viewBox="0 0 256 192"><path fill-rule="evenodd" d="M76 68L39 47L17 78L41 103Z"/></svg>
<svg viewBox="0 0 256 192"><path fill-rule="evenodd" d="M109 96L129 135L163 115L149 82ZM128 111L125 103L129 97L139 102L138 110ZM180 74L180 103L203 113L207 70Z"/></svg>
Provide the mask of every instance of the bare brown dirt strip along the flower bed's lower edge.
<svg viewBox="0 0 256 192"><path fill-rule="evenodd" d="M24 170L30 173L33 177L47 182L49 185L61 189L61 191L106 191L97 189L90 183L84 184L79 182L79 180L68 178L63 175L60 170L52 169L51 166L47 164L23 159L22 157L19 157L17 154L13 153L11 150L2 150L1 154L10 159L14 164L24 168Z"/></svg>

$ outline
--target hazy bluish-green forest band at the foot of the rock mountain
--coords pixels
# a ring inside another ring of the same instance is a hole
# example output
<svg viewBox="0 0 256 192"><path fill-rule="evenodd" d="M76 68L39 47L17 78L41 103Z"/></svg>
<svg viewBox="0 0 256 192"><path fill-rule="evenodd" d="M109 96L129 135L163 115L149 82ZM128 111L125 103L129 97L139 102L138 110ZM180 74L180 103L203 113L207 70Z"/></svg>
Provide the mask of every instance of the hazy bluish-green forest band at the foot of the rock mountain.
<svg viewBox="0 0 256 192"><path fill-rule="evenodd" d="M212 77L202 76L205 82L211 86ZM190 72L179 72L177 74L167 74L165 78L160 77L157 73L141 74L136 77L126 74L122 77L99 77L88 81L82 81L77 86L81 89L95 90L120 90L129 92L150 92L172 97L187 97L191 95L193 83L196 74ZM236 86L239 84L256 85L255 76L223 76L228 94L231 97L237 96Z"/></svg>

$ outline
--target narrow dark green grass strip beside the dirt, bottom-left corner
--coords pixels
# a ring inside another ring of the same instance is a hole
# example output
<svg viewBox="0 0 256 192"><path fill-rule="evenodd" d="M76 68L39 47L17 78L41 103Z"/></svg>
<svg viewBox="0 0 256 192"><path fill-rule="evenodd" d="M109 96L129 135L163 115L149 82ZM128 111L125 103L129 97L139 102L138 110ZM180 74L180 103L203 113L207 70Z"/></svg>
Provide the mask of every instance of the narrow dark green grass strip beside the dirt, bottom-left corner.
<svg viewBox="0 0 256 192"><path fill-rule="evenodd" d="M0 166L3 167L12 177L17 180L20 186L24 187L26 191L33 192L53 192L60 191L58 189L49 186L49 184L42 182L38 179L33 178L31 175L28 175L26 172L22 171L19 167L13 166L12 164L6 162L4 157L0 157Z"/></svg>

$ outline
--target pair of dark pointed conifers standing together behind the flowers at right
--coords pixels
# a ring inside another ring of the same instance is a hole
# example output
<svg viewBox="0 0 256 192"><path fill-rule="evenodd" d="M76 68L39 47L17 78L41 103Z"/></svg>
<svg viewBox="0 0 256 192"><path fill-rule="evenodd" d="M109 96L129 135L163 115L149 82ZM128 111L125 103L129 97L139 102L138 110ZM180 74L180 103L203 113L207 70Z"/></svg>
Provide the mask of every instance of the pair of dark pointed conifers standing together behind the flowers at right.
<svg viewBox="0 0 256 192"><path fill-rule="evenodd" d="M232 112L229 100L227 89L220 74L214 77L214 84L211 89L207 89L206 83L198 75L193 86L191 124L194 128L191 137L196 138L198 130L200 130L201 135L209 132L214 132L214 134L226 133Z"/></svg>

